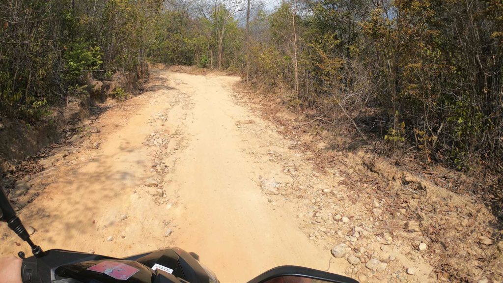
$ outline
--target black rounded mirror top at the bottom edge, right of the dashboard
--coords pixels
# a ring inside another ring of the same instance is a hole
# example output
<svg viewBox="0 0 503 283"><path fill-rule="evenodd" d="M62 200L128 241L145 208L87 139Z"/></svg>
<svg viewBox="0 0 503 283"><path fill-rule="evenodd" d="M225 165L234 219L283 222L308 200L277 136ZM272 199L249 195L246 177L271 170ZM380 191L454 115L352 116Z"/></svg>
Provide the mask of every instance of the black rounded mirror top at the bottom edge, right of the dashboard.
<svg viewBox="0 0 503 283"><path fill-rule="evenodd" d="M343 275L300 266L279 266L251 279L248 283L359 283Z"/></svg>

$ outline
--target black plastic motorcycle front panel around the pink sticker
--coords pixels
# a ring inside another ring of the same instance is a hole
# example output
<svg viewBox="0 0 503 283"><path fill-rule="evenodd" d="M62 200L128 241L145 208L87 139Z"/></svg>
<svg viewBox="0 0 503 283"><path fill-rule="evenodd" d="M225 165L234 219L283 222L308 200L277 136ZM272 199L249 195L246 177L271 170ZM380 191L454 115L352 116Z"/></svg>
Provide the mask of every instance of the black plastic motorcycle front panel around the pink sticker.
<svg viewBox="0 0 503 283"><path fill-rule="evenodd" d="M65 250L49 250L41 258L32 256L24 259L21 274L24 283L50 283L67 277L84 283L120 282L104 273L87 270L105 260L125 263L139 269L127 282L178 283L180 282L178 278L181 278L189 282L209 283L209 276L199 262L180 248L158 250L123 259ZM154 264L173 269L173 274L160 269L152 270Z"/></svg>

